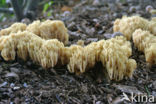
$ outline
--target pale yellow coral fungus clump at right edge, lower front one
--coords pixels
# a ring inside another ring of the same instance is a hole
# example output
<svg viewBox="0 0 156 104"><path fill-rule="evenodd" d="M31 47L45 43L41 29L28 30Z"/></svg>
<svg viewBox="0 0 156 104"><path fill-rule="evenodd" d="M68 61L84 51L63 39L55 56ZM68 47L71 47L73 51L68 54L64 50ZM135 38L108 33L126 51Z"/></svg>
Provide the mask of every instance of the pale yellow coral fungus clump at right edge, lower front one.
<svg viewBox="0 0 156 104"><path fill-rule="evenodd" d="M149 31L138 29L133 33L133 42L140 51L145 53L149 64L156 64L156 36Z"/></svg>

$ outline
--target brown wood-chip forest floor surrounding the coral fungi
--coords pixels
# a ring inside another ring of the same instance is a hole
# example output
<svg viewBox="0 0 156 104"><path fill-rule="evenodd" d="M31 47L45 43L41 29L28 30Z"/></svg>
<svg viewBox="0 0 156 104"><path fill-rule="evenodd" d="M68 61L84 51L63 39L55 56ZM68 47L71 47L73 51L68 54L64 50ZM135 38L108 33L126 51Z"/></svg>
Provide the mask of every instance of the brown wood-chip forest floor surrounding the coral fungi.
<svg viewBox="0 0 156 104"><path fill-rule="evenodd" d="M111 38L114 20L123 15L137 14L147 19L155 16L146 11L146 6L156 2L140 4L135 0L94 1L99 2L69 2L64 9L61 7L65 12L60 12L61 8L55 6L51 17L39 18L63 20L69 30L68 45L71 45L80 39L88 44ZM148 68L144 54L133 43L132 48L132 58L137 61L137 69L131 79L125 78L119 82L106 79L97 71L98 66L76 76L70 74L66 67L44 70L31 60L24 62L17 58L6 62L0 57L0 104L131 104L130 101L122 100L123 93L129 97L134 93L153 95L156 98L156 67Z"/></svg>

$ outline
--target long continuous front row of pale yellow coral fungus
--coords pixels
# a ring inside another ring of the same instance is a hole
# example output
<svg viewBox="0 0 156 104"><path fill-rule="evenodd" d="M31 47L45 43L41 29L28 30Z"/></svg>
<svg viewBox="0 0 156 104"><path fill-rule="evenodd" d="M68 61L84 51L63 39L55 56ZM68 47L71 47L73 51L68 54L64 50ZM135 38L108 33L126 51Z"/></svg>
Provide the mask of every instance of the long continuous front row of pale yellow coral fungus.
<svg viewBox="0 0 156 104"><path fill-rule="evenodd" d="M76 74L84 73L101 62L111 80L131 77L136 68L135 60L129 59L130 42L123 36L100 40L84 47L65 47L57 39L45 40L32 32L24 31L0 37L0 51L5 60L14 60L17 53L23 60L30 57L44 68L54 67L56 64L67 65L69 72Z"/></svg>

